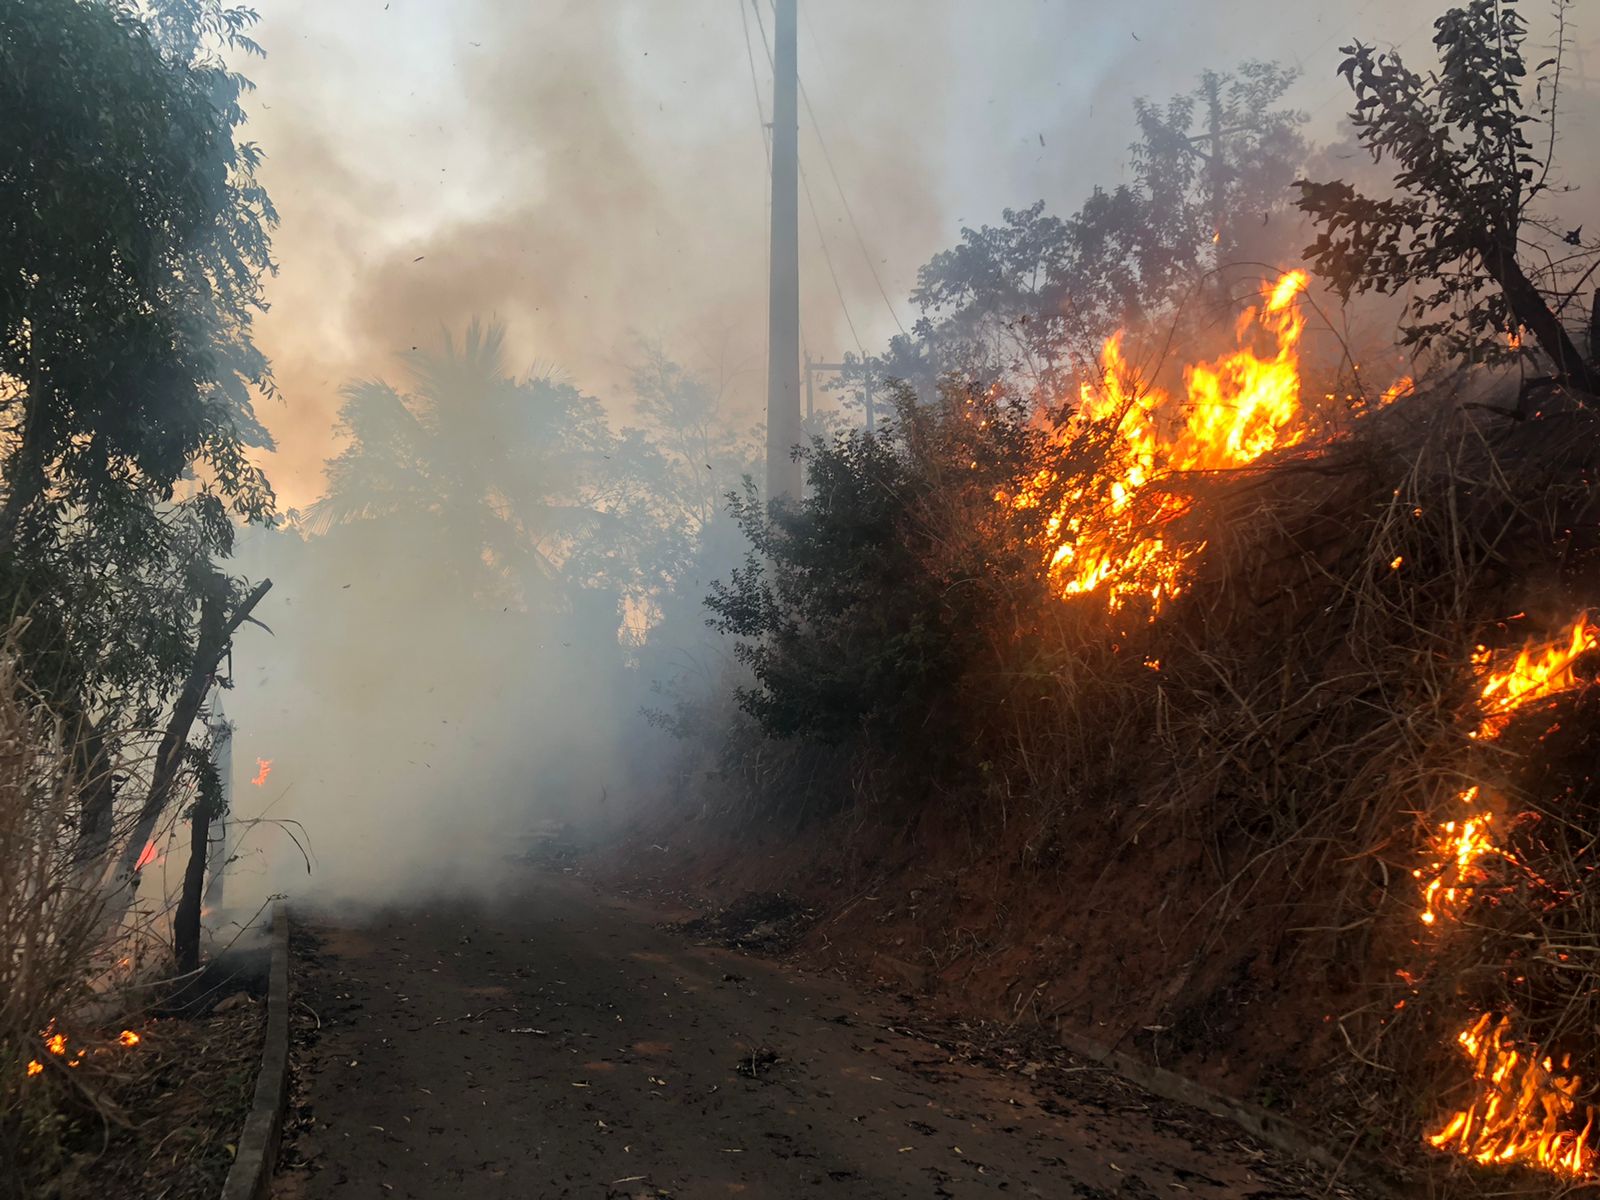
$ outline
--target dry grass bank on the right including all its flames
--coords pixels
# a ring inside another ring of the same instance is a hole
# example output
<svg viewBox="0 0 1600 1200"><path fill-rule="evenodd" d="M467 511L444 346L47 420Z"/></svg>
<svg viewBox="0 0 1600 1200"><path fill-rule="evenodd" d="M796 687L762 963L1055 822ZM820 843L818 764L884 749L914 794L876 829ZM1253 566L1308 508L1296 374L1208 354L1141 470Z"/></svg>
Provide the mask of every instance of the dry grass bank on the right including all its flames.
<svg viewBox="0 0 1600 1200"><path fill-rule="evenodd" d="M1600 419L1462 379L1298 411L1330 392L1288 386L1282 286L1176 410L1114 370L1050 429L994 395L901 413L896 520L931 598L901 626L960 672L822 784L968 829L997 877L1014 854L1066 880L1067 917L1037 906L1054 928L992 931L1067 946L1054 979L1027 966L1042 1016L1182 1054L1243 979L1261 1003L1219 1053L1330 1141L1549 1194L1600 1142ZM802 747L760 763L806 794Z"/></svg>

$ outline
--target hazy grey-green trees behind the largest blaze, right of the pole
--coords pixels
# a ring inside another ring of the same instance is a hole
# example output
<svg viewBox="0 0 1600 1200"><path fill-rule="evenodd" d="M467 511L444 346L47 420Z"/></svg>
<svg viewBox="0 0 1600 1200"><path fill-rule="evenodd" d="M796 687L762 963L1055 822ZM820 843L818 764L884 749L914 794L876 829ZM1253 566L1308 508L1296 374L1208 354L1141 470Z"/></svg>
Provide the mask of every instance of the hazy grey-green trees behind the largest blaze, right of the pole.
<svg viewBox="0 0 1600 1200"><path fill-rule="evenodd" d="M1171 317L1208 272L1278 258L1306 155L1302 114L1280 106L1293 80L1245 62L1205 72L1165 106L1141 99L1133 184L1096 187L1066 219L1038 202L963 229L918 272L923 318L894 339L882 373L925 394L954 373L1059 398L1117 328Z"/></svg>

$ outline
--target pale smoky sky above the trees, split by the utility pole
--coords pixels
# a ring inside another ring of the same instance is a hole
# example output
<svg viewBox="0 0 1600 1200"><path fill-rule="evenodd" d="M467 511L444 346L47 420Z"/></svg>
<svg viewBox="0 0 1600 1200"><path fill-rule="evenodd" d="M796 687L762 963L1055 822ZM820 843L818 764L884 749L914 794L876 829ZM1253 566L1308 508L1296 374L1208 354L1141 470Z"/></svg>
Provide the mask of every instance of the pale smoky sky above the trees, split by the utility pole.
<svg viewBox="0 0 1600 1200"><path fill-rule="evenodd" d="M1302 70L1290 99L1310 136L1328 138L1347 107L1339 46L1360 37L1429 61L1443 10L798 2L816 118L802 107L802 325L824 360L909 325L917 269L962 226L1040 198L1066 213L1125 181L1136 96L1274 59ZM285 506L320 494L339 386L397 376L398 354L474 317L502 320L525 368L558 368L618 421L645 341L722 379L758 419L768 168L757 102L770 112L771 72L750 0L256 8L267 58L240 66L258 85L246 136L267 155L282 214L259 341L282 387L262 418ZM1547 5L1523 8L1547 37ZM1576 30L1578 69L1600 75L1600 21L1589 26Z"/></svg>

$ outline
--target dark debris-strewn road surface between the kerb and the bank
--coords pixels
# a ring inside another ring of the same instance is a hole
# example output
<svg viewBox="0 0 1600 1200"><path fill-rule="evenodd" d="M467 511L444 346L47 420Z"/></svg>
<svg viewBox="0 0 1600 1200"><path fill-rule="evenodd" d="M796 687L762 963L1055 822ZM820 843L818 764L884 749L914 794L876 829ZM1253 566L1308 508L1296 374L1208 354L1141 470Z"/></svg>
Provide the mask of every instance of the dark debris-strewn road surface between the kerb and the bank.
<svg viewBox="0 0 1600 1200"><path fill-rule="evenodd" d="M277 1200L1350 1195L1099 1067L963 1054L662 917L554 874L301 912Z"/></svg>

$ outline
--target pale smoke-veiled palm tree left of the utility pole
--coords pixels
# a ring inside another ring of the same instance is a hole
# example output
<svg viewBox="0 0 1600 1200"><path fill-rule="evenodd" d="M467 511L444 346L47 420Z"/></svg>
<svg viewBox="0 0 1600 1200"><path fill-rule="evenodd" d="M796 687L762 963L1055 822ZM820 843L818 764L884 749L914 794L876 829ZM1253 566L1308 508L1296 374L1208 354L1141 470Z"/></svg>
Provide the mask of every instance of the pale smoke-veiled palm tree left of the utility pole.
<svg viewBox="0 0 1600 1200"><path fill-rule="evenodd" d="M659 459L554 371L512 376L506 331L472 322L405 357L402 390L349 384L328 491L307 530L366 525L422 547L466 594L534 608L634 582L659 498ZM552 590L554 589L554 590Z"/></svg>

